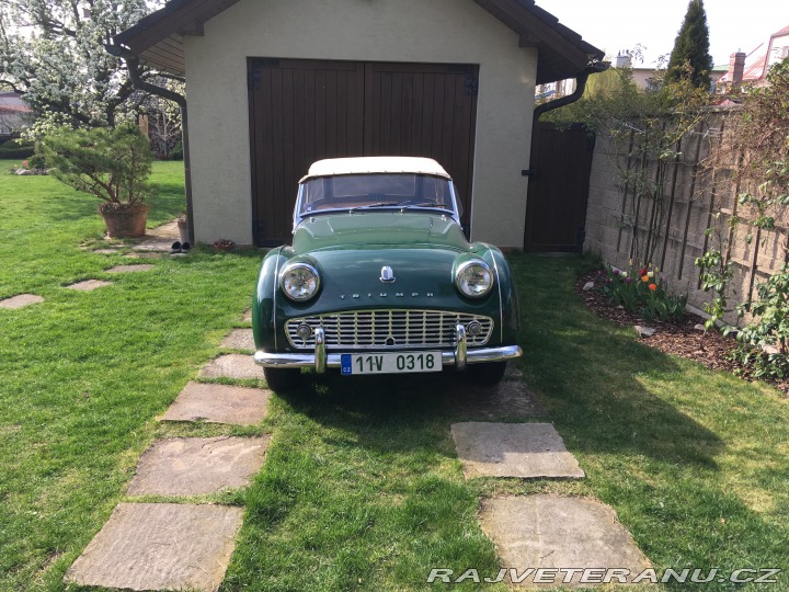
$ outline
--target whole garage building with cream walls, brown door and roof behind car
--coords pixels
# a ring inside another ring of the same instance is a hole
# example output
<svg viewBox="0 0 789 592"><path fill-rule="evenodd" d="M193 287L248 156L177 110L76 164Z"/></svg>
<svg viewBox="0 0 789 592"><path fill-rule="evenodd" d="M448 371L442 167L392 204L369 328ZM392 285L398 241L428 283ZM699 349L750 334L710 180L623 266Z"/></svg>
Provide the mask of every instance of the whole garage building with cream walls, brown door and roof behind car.
<svg viewBox="0 0 789 592"><path fill-rule="evenodd" d="M521 248L535 86L603 57L528 0L172 0L114 43L185 73L196 240L261 246L312 160L398 153Z"/></svg>

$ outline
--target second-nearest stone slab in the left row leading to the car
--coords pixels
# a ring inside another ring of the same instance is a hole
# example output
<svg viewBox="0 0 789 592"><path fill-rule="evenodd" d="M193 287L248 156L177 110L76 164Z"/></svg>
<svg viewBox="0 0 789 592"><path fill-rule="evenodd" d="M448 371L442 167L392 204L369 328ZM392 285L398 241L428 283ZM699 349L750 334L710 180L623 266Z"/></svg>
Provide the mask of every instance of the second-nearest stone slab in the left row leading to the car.
<svg viewBox="0 0 789 592"><path fill-rule="evenodd" d="M268 437L175 437L142 454L129 496L198 496L247 487L263 466Z"/></svg>

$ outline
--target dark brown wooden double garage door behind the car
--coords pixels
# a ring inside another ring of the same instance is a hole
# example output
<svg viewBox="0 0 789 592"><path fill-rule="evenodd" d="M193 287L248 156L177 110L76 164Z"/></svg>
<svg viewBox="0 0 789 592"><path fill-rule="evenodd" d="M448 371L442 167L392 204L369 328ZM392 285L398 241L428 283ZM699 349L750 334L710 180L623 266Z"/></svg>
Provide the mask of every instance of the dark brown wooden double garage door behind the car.
<svg viewBox="0 0 789 592"><path fill-rule="evenodd" d="M298 180L322 158L424 156L455 180L470 230L476 66L249 60L253 231L290 241Z"/></svg>

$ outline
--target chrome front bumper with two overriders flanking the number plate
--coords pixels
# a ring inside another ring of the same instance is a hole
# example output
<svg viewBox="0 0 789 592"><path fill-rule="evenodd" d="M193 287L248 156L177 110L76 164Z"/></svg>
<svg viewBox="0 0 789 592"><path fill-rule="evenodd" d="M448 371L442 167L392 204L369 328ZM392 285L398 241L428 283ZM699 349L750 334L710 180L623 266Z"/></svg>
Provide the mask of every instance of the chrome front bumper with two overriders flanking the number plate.
<svg viewBox="0 0 789 592"><path fill-rule="evenodd" d="M457 369L462 369L467 364L502 362L521 357L523 354L518 345L469 350L466 346L466 328L461 325L457 327L457 344L454 351L442 352L442 362L445 366L456 366ZM259 351L255 352L254 361L256 364L268 368L315 368L318 374L323 374L325 368L341 367L340 357L341 354L339 353L327 353L323 330L317 329L315 353L271 353Z"/></svg>

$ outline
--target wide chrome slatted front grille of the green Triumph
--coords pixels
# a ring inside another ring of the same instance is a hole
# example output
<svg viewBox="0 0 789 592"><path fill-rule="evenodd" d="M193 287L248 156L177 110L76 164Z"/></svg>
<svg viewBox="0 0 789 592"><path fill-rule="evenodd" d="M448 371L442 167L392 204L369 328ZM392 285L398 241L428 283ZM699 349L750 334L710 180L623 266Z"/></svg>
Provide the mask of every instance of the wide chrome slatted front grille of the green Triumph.
<svg viewBox="0 0 789 592"><path fill-rule="evenodd" d="M480 326L476 335L468 330L472 322ZM306 339L297 332L302 325L311 329ZM319 327L325 333L328 350L453 348L458 325L467 328L469 346L484 345L493 331L493 319L480 315L444 310L365 310L291 319L285 325L285 332L290 345L298 350L315 348L315 330Z"/></svg>

